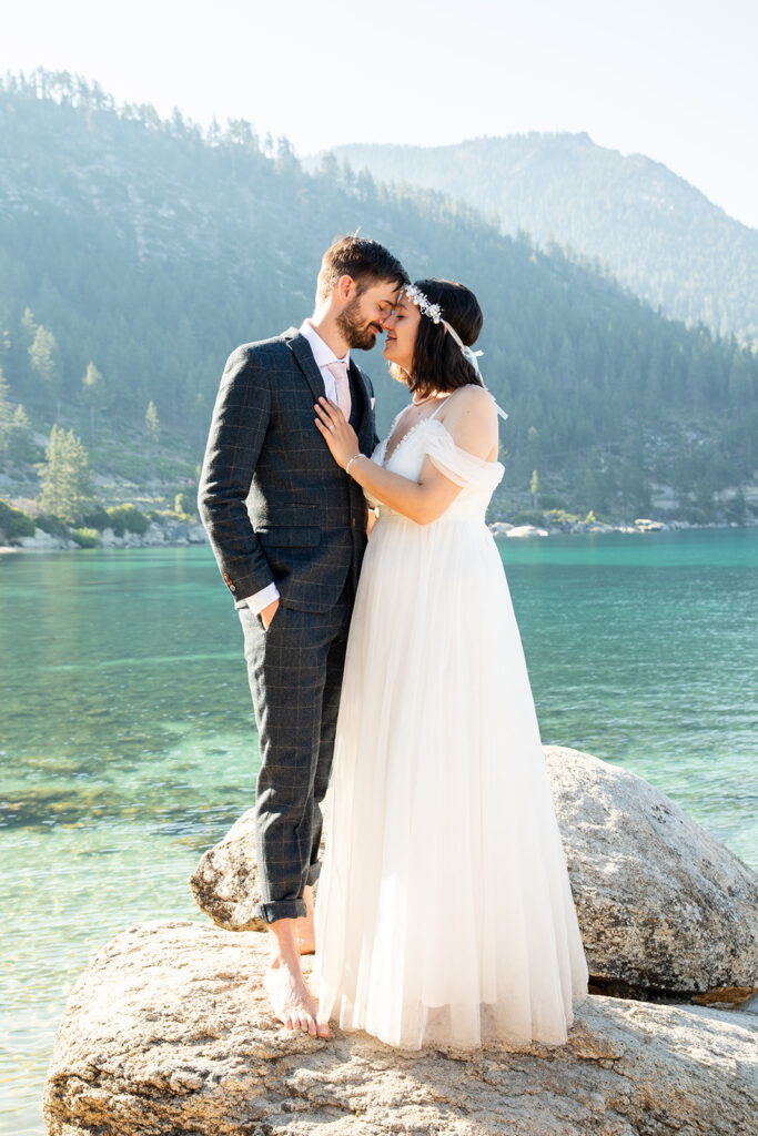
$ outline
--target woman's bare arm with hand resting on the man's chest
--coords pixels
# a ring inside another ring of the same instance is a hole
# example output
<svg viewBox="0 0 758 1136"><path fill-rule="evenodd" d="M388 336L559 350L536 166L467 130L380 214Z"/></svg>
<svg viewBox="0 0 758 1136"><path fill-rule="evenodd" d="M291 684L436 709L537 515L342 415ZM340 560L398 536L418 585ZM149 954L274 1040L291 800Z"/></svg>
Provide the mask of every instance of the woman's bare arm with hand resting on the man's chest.
<svg viewBox="0 0 758 1136"><path fill-rule="evenodd" d="M456 445L475 458L488 459L493 450L497 454L498 418L492 399L485 391L475 386L464 387L444 409L444 426ZM441 517L460 493L463 486L440 473L428 458L424 459L417 482L390 473L364 454L353 458L358 449L357 438L339 407L320 399L316 412L316 426L338 465L344 469L349 463L350 476L394 512L415 520L417 525L428 525ZM330 429L330 425L334 428Z"/></svg>

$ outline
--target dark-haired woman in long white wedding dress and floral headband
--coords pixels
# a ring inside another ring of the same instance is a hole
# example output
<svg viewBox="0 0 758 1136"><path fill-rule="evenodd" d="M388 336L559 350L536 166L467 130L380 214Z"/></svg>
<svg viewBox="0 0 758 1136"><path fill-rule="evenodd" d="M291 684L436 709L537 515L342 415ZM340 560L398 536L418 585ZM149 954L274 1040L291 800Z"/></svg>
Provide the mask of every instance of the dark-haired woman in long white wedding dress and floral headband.
<svg viewBox="0 0 758 1136"><path fill-rule="evenodd" d="M378 520L342 685L316 904L319 1033L561 1044L588 969L520 637L484 517L503 467L474 294L406 287L385 358L411 394L372 458L316 424Z"/></svg>

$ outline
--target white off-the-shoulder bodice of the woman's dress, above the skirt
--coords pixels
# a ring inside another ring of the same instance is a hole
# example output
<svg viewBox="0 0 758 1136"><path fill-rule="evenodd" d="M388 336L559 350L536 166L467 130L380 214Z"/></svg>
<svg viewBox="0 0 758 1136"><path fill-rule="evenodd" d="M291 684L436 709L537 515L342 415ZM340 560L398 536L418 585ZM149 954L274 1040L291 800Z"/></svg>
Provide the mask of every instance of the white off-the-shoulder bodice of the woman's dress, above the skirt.
<svg viewBox="0 0 758 1136"><path fill-rule="evenodd" d="M393 424L394 425L394 424ZM502 481L505 467L500 461L484 461L467 450L456 445L452 435L435 416L424 418L408 431L397 443L388 461L384 460L390 434L376 446L372 461L385 466L393 474L418 481L424 459L430 461L456 485L463 486L440 521L459 518L461 515L484 518L490 498ZM370 506L378 504L370 496ZM380 504L381 516L399 516L385 504ZM439 521L438 521L439 524Z"/></svg>

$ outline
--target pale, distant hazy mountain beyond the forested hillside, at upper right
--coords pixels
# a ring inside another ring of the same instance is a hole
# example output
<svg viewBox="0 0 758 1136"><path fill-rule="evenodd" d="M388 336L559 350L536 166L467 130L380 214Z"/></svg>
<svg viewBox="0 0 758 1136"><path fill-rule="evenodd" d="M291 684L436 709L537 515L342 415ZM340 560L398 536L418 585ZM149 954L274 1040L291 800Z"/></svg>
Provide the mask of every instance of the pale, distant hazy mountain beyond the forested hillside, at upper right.
<svg viewBox="0 0 758 1136"><path fill-rule="evenodd" d="M670 318L758 343L758 231L645 154L599 147L586 132L331 152L383 181L461 197L509 235L564 245Z"/></svg>

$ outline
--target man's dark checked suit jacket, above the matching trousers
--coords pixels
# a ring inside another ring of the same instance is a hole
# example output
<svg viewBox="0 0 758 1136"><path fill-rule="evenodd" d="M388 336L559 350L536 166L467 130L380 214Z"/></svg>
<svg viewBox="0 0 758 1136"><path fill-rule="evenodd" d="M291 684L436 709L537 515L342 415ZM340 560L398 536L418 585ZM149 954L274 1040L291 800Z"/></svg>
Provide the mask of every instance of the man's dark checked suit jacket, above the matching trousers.
<svg viewBox="0 0 758 1136"><path fill-rule="evenodd" d="M363 453L376 442L373 391L350 364L350 420ZM328 611L366 548L361 487L315 425L324 381L294 327L230 356L214 408L198 507L222 576L241 608L268 584L284 607Z"/></svg>

